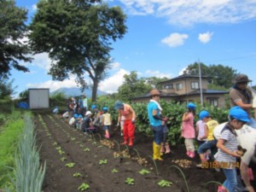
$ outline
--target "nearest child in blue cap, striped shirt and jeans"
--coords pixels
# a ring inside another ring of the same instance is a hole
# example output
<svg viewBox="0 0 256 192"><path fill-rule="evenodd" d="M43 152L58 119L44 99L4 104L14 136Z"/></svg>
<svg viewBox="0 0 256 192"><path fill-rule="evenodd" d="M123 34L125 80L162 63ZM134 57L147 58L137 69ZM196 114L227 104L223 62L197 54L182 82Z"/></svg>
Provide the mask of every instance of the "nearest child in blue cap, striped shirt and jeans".
<svg viewBox="0 0 256 192"><path fill-rule="evenodd" d="M218 162L218 166L223 169L226 180L223 183L224 188L219 186L218 191L230 192L236 191L237 177L236 167L239 165L236 163L236 158L241 157L237 152L237 135L235 130L240 130L242 125L250 121L248 114L240 107L233 107L230 109L230 121L224 125L224 129L221 132L221 137L218 139L217 148L218 153L214 155Z"/></svg>

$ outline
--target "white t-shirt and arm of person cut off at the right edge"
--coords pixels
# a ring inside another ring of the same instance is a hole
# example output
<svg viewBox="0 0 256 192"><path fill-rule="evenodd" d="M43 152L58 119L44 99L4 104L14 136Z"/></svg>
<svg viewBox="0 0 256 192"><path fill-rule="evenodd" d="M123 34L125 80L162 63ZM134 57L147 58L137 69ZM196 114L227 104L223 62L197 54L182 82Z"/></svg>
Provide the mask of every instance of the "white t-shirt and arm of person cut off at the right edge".
<svg viewBox="0 0 256 192"><path fill-rule="evenodd" d="M240 130L236 130L238 143L242 148L246 148L247 152L243 154L241 160L248 166L253 158L256 145L256 130L248 125L243 125Z"/></svg>

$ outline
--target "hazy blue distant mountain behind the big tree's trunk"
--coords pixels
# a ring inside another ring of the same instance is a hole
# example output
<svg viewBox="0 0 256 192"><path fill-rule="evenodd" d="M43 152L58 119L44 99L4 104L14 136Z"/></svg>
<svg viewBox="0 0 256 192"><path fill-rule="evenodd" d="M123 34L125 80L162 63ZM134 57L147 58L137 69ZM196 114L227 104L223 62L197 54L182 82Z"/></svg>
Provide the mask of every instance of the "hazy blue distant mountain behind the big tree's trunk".
<svg viewBox="0 0 256 192"><path fill-rule="evenodd" d="M80 88L77 88L77 87L72 87L72 88L60 88L58 90L55 90L55 91L52 91L49 93L49 95L53 95L55 93L64 93L65 96L81 96L82 94L85 94L85 96L87 96L87 98L90 98L91 97L91 94L92 94L92 90L89 88L89 89L86 89L84 90L84 92L81 92ZM97 91L97 96L104 96L104 95L108 95L108 93L102 91L102 90L98 90Z"/></svg>

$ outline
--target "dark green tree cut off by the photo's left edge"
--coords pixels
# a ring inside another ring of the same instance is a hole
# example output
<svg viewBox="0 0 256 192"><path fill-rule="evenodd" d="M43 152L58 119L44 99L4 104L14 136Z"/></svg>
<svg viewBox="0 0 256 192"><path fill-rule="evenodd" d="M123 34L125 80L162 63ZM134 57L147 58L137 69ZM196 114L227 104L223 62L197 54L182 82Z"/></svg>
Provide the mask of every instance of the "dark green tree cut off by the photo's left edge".
<svg viewBox="0 0 256 192"><path fill-rule="evenodd" d="M9 77L10 70L28 72L20 61L31 61L29 49L24 42L27 27L26 9L15 6L15 1L0 1L0 76Z"/></svg>

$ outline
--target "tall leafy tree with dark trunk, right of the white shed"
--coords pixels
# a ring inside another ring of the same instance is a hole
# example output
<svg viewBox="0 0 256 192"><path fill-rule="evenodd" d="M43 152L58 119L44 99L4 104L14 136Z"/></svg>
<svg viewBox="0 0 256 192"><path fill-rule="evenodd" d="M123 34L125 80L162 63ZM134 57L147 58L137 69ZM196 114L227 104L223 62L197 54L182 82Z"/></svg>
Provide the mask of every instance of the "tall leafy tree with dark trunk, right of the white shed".
<svg viewBox="0 0 256 192"><path fill-rule="evenodd" d="M62 81L73 74L83 90L84 77L90 77L92 101L110 67L111 45L126 32L126 16L119 7L95 2L99 1L40 1L29 36L35 53L49 53L53 79Z"/></svg>

